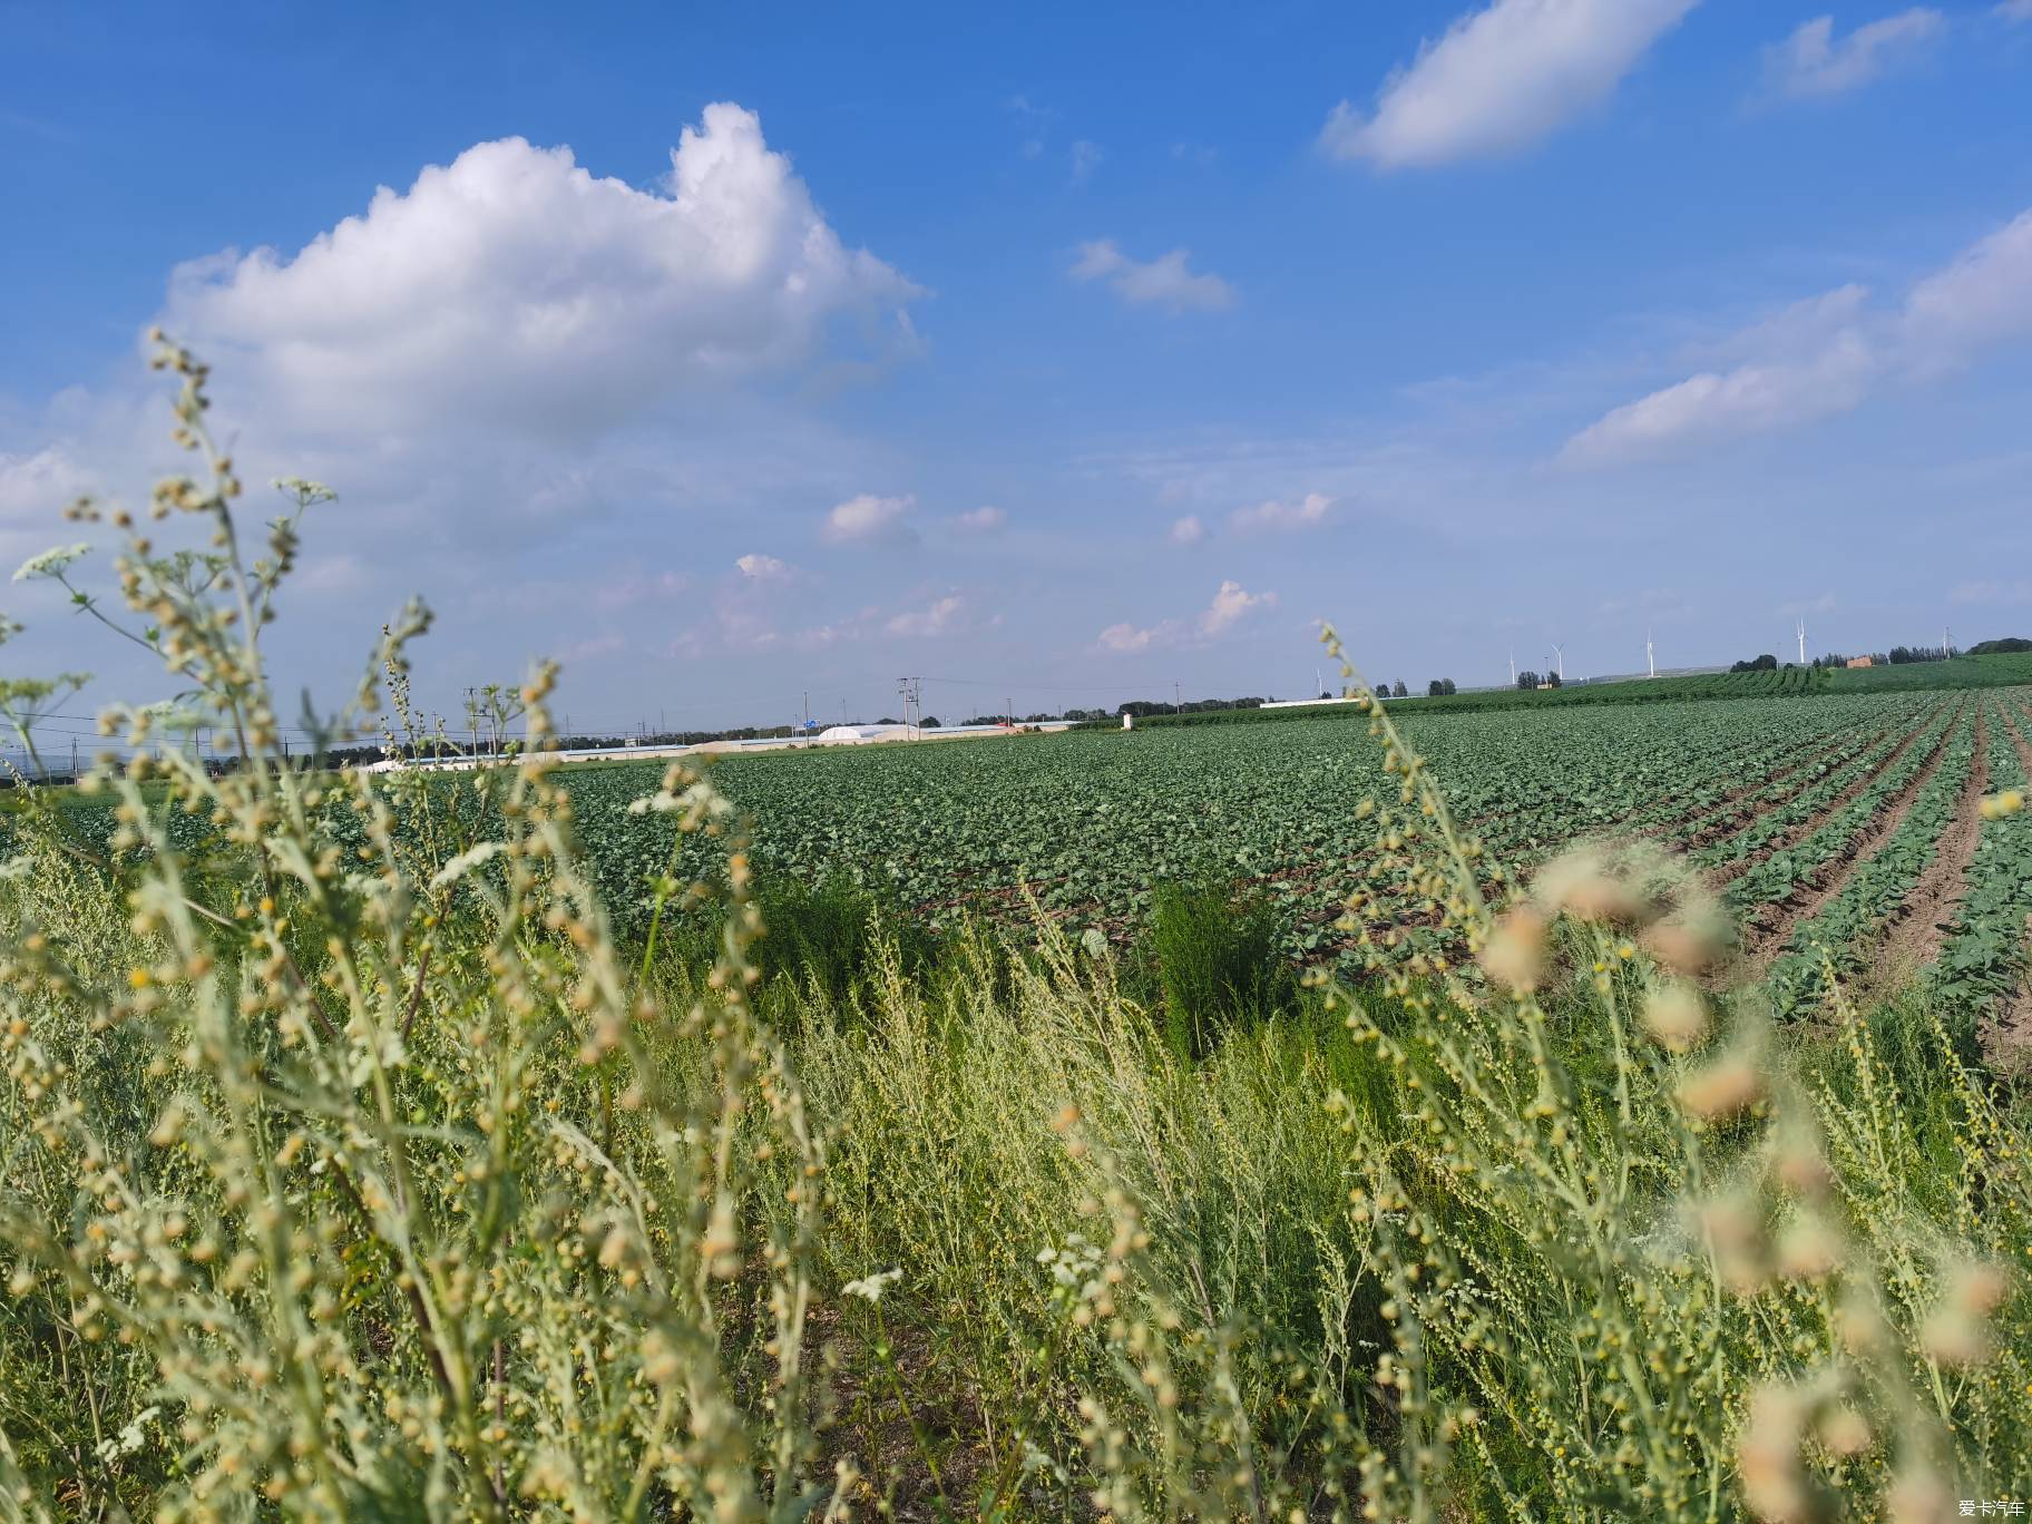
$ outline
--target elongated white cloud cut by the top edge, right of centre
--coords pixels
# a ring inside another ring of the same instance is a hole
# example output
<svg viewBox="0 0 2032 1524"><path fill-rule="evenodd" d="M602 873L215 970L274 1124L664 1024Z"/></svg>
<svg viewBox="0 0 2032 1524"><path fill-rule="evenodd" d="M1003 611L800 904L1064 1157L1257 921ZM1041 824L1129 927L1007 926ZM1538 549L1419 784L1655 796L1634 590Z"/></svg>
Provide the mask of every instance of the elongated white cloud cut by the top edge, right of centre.
<svg viewBox="0 0 2032 1524"><path fill-rule="evenodd" d="M1516 152L1615 89L1699 0L1496 0L1384 81L1376 110L1341 102L1319 134L1378 169Z"/></svg>

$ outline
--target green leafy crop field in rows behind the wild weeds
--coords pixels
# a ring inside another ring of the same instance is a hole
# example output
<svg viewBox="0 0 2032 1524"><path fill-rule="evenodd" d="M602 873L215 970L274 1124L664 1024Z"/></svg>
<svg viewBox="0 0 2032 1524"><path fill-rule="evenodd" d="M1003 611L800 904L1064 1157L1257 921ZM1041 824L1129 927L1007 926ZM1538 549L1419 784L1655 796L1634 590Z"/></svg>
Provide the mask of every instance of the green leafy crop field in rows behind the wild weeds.
<svg viewBox="0 0 2032 1524"><path fill-rule="evenodd" d="M1884 923L1934 870L1936 839L1971 817L1985 780L2018 776L2024 701L1835 693L1485 713L1402 705L1394 717L1498 864L1528 870L1589 835L1689 851L1745 947L1790 949L1784 1000L1796 1004L1794 986L1813 983L1808 949L1829 941L1845 965L1869 963ZM1120 941L1158 886L1215 880L1260 890L1292 957L1370 955L1333 923L1378 855L1363 801L1394 788L1345 713L732 756L711 770L754 817L766 874L880 884L933 925L969 910L1022 923L1034 900ZM608 902L638 914L671 849L654 819L626 813L654 772L569 778ZM1987 931L1949 939L1951 977L1995 994L2016 973L2022 937L1995 939L2016 904L2006 894ZM1376 908L1400 927L1400 955L1443 949L1447 933L1420 925L1431 906L1418 896ZM1993 961L1977 969L1969 947Z"/></svg>

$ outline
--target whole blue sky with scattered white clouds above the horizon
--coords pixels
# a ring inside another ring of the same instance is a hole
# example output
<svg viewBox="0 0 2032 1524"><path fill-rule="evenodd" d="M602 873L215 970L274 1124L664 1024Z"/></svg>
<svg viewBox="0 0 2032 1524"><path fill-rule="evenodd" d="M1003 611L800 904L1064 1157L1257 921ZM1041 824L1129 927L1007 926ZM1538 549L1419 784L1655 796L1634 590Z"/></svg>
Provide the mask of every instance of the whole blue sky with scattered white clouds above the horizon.
<svg viewBox="0 0 2032 1524"><path fill-rule="evenodd" d="M333 697L410 591L581 729L2032 632L2026 0L0 4L0 553L167 321Z"/></svg>

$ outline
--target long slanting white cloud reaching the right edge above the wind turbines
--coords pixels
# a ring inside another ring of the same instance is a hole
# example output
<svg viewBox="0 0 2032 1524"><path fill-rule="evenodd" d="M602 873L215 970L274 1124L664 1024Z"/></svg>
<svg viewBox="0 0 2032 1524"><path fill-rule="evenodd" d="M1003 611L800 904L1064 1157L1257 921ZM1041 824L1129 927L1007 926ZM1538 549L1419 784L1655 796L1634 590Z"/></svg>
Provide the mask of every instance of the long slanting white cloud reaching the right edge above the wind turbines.
<svg viewBox="0 0 2032 1524"><path fill-rule="evenodd" d="M1609 465L1813 423L1859 406L1888 380L1930 380L2026 337L2032 211L1914 282L1896 313L1869 311L1861 287L1841 287L1735 335L1735 364L1611 408L1561 459Z"/></svg>

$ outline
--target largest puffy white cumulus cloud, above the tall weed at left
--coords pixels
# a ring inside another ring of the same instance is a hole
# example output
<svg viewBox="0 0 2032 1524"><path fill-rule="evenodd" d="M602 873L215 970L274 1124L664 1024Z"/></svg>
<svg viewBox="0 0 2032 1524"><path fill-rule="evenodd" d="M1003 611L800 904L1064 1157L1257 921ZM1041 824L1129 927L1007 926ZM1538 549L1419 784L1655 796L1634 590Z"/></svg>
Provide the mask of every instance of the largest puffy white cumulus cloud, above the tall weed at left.
<svg viewBox="0 0 2032 1524"><path fill-rule="evenodd" d="M685 386L797 364L918 291L819 213L754 112L707 106L636 189L482 142L295 254L181 266L165 325L299 423L583 435Z"/></svg>

